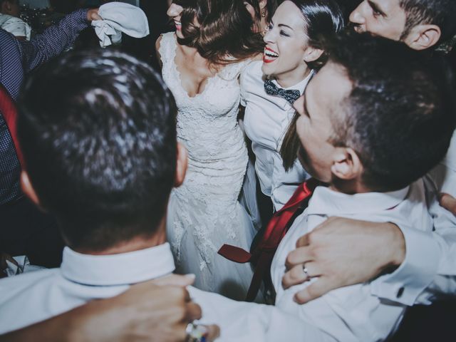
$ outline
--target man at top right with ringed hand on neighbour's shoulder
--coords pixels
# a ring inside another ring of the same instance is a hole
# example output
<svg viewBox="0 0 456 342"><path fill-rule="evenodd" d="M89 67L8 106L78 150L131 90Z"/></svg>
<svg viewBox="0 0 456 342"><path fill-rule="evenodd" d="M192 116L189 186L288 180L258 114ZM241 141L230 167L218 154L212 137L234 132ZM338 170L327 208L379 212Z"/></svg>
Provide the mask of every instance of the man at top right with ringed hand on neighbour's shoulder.
<svg viewBox="0 0 456 342"><path fill-rule="evenodd" d="M453 0L363 0L351 13L350 21L357 32L401 41L437 58L437 46L456 34L455 16ZM434 183L427 189L431 196L445 192L456 197L455 156L456 135L445 158L429 173ZM451 197L442 199L442 204L449 206ZM422 232L408 224L398 227L332 217L299 239L298 248L287 259L290 269L284 284L305 281L302 264L314 261L312 271L316 273L309 275L318 275L318 281L296 294L301 303L331 289L368 280L375 283L375 296L408 306L430 304L448 295L455 297L456 218L442 210L437 200L430 213L436 217L432 232ZM351 249L346 249L346 245ZM395 266L395 271L391 272L390 266Z"/></svg>

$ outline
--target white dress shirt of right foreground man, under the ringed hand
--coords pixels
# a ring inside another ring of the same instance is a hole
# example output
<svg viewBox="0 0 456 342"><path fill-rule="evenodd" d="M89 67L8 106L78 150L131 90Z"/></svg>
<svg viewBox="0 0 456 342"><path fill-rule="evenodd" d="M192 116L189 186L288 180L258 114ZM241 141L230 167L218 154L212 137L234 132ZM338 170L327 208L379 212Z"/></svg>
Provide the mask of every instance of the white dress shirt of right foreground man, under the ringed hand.
<svg viewBox="0 0 456 342"><path fill-rule="evenodd" d="M276 289L276 307L320 328L336 341L382 341L395 330L406 306L373 296L370 283L336 289L304 305L296 304L292 299L296 291L304 289L309 282L286 290L281 286L286 271L286 256L295 248L296 241L331 216L395 224L410 222L416 229L430 232L432 220L427 212L423 180L395 192L356 195L317 187L309 207L296 218L272 261L271 277Z"/></svg>

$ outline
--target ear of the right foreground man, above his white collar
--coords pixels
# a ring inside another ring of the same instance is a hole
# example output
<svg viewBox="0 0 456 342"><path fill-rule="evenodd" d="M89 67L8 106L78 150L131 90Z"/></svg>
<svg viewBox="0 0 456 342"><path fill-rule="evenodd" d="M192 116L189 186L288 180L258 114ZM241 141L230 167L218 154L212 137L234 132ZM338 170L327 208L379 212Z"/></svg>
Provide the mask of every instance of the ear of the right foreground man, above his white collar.
<svg viewBox="0 0 456 342"><path fill-rule="evenodd" d="M356 180L363 174L363 164L350 147L338 147L331 173L340 180Z"/></svg>

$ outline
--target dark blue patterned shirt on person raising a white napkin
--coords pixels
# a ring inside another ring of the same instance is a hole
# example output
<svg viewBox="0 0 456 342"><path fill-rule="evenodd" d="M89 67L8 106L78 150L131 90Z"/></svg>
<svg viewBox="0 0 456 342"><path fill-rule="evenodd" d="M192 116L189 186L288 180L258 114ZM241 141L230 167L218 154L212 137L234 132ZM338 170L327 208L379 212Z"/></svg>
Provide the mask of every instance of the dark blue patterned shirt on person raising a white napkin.
<svg viewBox="0 0 456 342"><path fill-rule="evenodd" d="M16 100L24 75L70 48L78 33L89 25L87 10L81 9L69 14L31 41L18 41L0 29L0 83ZM0 113L0 205L22 196L20 173L16 149Z"/></svg>

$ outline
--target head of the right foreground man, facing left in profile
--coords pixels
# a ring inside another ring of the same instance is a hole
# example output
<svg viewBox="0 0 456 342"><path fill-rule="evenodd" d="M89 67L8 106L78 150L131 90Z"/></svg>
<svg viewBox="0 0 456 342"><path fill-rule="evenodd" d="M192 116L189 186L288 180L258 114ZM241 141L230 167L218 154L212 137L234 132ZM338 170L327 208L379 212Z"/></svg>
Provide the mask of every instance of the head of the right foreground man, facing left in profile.
<svg viewBox="0 0 456 342"><path fill-rule="evenodd" d="M444 157L450 71L403 43L346 33L295 103L306 170L343 192L398 190Z"/></svg>

